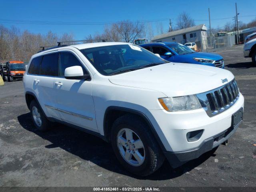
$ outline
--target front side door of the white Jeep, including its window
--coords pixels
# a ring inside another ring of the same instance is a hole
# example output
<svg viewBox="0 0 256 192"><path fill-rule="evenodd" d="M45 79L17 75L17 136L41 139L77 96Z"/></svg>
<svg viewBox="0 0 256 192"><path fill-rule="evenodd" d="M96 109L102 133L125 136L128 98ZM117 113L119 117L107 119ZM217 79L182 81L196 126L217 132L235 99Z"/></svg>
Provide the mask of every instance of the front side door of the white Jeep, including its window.
<svg viewBox="0 0 256 192"><path fill-rule="evenodd" d="M64 122L98 132L92 99L92 81L64 78L65 69L71 66L81 66L84 74L88 73L75 52L60 52L59 77L54 80L60 117Z"/></svg>

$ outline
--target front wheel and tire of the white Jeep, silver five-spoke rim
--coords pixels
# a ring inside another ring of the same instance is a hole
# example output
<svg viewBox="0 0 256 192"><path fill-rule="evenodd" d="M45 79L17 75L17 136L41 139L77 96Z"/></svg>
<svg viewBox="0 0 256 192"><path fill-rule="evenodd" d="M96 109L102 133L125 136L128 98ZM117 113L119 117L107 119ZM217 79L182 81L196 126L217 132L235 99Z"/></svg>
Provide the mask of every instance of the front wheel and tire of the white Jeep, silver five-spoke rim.
<svg viewBox="0 0 256 192"><path fill-rule="evenodd" d="M126 137L126 134L129 135L130 132L132 132L132 139L129 142L131 137ZM118 139L121 135L122 139ZM164 154L146 122L133 114L126 114L115 120L111 130L111 143L122 166L136 175L152 174L162 166L165 160ZM125 154L128 154L127 159L129 160L125 160Z"/></svg>

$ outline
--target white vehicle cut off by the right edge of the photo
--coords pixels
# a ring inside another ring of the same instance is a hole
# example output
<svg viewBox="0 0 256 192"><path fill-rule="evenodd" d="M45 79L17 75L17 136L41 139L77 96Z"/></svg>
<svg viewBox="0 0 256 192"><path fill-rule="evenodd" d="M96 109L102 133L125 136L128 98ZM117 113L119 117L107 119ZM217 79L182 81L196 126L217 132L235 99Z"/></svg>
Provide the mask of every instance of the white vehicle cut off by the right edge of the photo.
<svg viewBox="0 0 256 192"><path fill-rule="evenodd" d="M256 33L248 35L244 40L244 57L251 57L256 65Z"/></svg>

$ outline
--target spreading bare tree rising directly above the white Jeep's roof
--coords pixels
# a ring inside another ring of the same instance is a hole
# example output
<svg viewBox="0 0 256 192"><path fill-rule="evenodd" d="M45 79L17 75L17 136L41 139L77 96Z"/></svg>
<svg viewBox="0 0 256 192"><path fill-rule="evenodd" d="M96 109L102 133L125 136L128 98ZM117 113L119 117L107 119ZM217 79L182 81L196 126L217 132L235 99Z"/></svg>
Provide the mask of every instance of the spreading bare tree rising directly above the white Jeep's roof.
<svg viewBox="0 0 256 192"><path fill-rule="evenodd" d="M124 42L133 42L144 30L144 24L139 22L133 23L129 20L113 24L113 27L121 35Z"/></svg>

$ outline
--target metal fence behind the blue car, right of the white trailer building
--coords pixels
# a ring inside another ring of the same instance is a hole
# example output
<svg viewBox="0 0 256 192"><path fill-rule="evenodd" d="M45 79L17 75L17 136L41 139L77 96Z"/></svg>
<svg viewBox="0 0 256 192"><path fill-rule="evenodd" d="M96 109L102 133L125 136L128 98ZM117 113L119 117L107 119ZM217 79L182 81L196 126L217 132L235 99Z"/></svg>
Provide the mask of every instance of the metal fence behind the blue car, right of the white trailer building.
<svg viewBox="0 0 256 192"><path fill-rule="evenodd" d="M236 43L234 35L207 37L206 42L207 46L205 49L202 49L202 52L225 50L232 47Z"/></svg>

